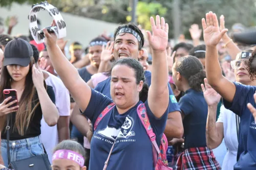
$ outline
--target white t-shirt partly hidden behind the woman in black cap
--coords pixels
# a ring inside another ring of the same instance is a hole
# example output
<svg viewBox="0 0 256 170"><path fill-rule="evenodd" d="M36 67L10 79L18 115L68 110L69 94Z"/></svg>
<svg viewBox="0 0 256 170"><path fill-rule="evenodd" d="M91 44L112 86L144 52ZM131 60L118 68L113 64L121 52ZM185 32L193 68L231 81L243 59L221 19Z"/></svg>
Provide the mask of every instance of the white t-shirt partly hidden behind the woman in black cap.
<svg viewBox="0 0 256 170"><path fill-rule="evenodd" d="M70 95L68 89L56 76L47 72L49 77L45 80L46 84L53 87L55 94L55 105L59 116L70 116ZM57 125L49 127L45 122L44 116L41 119L41 141L44 144L50 163L52 163L52 151L58 144Z"/></svg>

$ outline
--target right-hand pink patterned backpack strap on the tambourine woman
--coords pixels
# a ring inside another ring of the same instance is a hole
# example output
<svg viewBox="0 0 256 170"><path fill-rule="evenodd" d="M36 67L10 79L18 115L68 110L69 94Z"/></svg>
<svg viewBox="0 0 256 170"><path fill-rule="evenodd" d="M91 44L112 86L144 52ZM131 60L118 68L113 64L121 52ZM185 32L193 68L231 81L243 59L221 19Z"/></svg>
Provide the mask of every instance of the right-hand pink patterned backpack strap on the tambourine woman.
<svg viewBox="0 0 256 170"><path fill-rule="evenodd" d="M154 165L156 165L157 162L157 155L160 154L160 149L156 142L156 135L153 132L153 129L150 125L150 120L148 119L147 113L146 113L146 107L145 104L140 104L137 108L137 113L139 115L139 118L141 120L142 125L144 126L146 133L148 137L150 137L153 147L153 158L154 158ZM155 148L155 149L154 149ZM158 153L158 154L157 154Z"/></svg>

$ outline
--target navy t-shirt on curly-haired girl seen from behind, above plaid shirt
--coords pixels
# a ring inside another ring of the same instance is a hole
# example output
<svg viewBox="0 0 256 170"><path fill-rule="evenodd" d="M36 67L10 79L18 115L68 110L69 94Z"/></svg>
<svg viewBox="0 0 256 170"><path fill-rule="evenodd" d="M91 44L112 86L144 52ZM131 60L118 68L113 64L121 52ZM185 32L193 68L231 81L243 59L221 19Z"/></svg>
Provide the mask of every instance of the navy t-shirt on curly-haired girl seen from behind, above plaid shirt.
<svg viewBox="0 0 256 170"><path fill-rule="evenodd" d="M202 91L193 89L186 90L179 101L180 109L185 114L184 126L184 149L206 147L206 120L208 105Z"/></svg>

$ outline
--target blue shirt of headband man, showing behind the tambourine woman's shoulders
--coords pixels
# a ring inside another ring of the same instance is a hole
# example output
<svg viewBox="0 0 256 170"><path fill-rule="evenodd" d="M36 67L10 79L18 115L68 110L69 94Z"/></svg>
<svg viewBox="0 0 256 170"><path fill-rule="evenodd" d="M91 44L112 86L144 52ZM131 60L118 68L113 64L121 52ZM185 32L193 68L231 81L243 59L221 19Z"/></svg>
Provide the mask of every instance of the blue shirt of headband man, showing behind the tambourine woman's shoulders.
<svg viewBox="0 0 256 170"><path fill-rule="evenodd" d="M151 85L151 72L150 71L145 71L144 72L145 78L146 78L146 84L148 87ZM97 86L94 88L96 91L108 96L111 98L110 94L110 83L111 83L111 77L98 83ZM180 107L176 101L175 95L173 93L172 88L170 87L168 83L168 89L169 89L169 113L174 112L174 111L180 111Z"/></svg>

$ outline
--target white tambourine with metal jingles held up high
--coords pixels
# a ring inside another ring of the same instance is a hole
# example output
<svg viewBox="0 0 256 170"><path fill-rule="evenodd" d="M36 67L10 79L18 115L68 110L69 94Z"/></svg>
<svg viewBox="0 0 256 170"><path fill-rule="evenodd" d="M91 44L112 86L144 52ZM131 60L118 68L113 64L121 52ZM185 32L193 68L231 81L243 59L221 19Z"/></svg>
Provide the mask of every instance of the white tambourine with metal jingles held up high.
<svg viewBox="0 0 256 170"><path fill-rule="evenodd" d="M39 44L43 43L45 40L44 32L42 32L42 30L39 30L37 26L37 12L39 12L40 10L47 10L56 23L55 27L46 27L47 31L49 33L54 33L58 39L66 37L66 23L63 21L59 10L49 4L47 1L44 1L40 4L37 3L32 5L32 9L28 15L29 29L35 42Z"/></svg>

